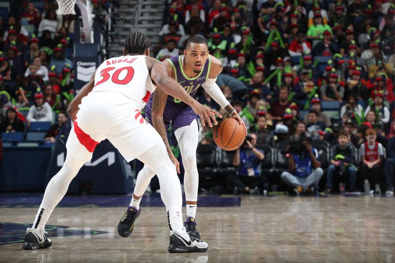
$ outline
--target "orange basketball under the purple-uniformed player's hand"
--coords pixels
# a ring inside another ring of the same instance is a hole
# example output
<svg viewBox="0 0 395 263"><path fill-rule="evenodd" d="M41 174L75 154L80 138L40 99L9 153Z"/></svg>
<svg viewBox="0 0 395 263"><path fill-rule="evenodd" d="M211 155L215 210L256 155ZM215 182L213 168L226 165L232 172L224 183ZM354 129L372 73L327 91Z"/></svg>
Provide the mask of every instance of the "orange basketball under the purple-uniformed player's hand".
<svg viewBox="0 0 395 263"><path fill-rule="evenodd" d="M243 144L245 136L243 125L233 118L218 122L213 131L214 142L223 150L236 150Z"/></svg>

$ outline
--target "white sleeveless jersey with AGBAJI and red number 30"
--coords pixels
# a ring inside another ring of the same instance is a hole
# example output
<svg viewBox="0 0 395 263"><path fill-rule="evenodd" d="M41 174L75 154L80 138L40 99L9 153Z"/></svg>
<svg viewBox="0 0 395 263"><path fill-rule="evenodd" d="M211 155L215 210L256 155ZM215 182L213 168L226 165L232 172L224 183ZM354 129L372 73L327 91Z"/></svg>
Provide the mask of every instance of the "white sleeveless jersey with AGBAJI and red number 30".
<svg viewBox="0 0 395 263"><path fill-rule="evenodd" d="M144 108L155 86L148 73L146 56L121 56L104 61L95 74L93 92L118 92Z"/></svg>

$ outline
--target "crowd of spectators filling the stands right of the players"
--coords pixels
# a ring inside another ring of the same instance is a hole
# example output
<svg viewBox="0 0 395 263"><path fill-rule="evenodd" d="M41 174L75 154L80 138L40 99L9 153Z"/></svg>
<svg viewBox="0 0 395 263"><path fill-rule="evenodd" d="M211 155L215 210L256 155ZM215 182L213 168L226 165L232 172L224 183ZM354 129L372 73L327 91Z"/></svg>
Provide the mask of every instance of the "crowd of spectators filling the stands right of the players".
<svg viewBox="0 0 395 263"><path fill-rule="evenodd" d="M288 149L295 140L302 145L287 155L288 172L276 175L296 192L320 180L333 191L340 176L340 190L381 193L384 188L391 195L394 15L390 0L172 0L166 1L154 50L164 60L183 54L189 37L206 37L210 54L224 66L217 84L253 142L276 148L289 141ZM221 111L204 90L198 100ZM200 139L213 144L209 129L201 129ZM332 148L325 173L311 140ZM246 145L235 156L241 179L230 177L228 184L236 192L255 192L256 181L246 177L263 176L254 164L262 156ZM248 157L243 161L243 156ZM379 178L377 171L384 170L386 178Z"/></svg>

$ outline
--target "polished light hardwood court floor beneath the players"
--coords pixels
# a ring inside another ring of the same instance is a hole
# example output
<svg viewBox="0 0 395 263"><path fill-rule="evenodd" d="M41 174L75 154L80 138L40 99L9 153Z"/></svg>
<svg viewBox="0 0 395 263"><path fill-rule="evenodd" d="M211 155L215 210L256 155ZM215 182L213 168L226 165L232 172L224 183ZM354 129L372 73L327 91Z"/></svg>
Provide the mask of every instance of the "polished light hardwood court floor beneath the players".
<svg viewBox="0 0 395 263"><path fill-rule="evenodd" d="M123 210L57 208L48 222L57 226L49 231L51 248L24 251L21 243L3 244L0 262L395 262L395 198L390 197L243 196L241 206L198 207L198 230L209 250L191 254L167 252L163 207L142 207L132 235L118 236ZM31 224L36 211L3 207L0 221ZM19 230L13 233L4 230L7 224L0 228L2 240L23 237L26 226L15 224Z"/></svg>

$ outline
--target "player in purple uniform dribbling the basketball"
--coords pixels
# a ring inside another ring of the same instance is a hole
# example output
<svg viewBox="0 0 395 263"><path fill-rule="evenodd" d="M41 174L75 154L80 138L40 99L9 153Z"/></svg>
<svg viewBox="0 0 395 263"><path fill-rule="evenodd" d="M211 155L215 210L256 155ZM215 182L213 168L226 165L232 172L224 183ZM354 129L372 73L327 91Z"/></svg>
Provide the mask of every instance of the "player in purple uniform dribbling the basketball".
<svg viewBox="0 0 395 263"><path fill-rule="evenodd" d="M180 83L192 97L195 97L197 89L202 86L232 118L235 118L245 128L244 122L215 83L217 76L222 72L222 64L220 60L209 55L205 38L200 36L190 38L187 41L184 55L173 56L166 59L163 64L166 67L167 74ZM184 188L187 220L184 225L190 236L200 239L195 220L199 178L196 162L197 115L190 106L158 89L148 101L146 112L146 119L153 124L162 137L170 159L175 164L177 172L180 173L180 164L173 155L166 136L170 122L173 126L185 168ZM247 134L246 128L245 134ZM140 214L141 197L154 176L155 172L146 165L139 172L130 205L118 223L118 234L120 236L127 237L132 233L134 221Z"/></svg>

